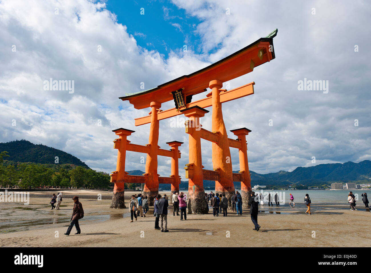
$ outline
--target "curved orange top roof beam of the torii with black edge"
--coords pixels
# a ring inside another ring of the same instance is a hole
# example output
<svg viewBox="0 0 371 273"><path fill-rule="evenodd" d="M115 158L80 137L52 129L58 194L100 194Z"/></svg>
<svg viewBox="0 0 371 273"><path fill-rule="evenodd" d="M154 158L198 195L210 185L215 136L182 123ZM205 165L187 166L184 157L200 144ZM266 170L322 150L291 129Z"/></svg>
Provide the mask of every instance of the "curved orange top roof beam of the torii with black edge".
<svg viewBox="0 0 371 273"><path fill-rule="evenodd" d="M185 96L194 95L206 91L209 82L214 79L226 82L252 72L254 67L275 58L273 38L277 32L278 29L267 37L260 38L226 58L192 74L181 76L149 90L131 94L125 93L126 96L120 97L120 99L128 100L136 109L143 109L150 107L151 101L164 103L173 100L171 92L180 88L184 87L183 94Z"/></svg>

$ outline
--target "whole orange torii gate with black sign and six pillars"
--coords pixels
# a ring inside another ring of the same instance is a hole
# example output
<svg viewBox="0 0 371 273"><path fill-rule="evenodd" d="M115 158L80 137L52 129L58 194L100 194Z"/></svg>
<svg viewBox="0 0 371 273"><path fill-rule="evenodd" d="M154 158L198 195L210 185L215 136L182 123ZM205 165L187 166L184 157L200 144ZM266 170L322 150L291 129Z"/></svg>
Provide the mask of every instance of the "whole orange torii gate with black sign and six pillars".
<svg viewBox="0 0 371 273"><path fill-rule="evenodd" d="M178 172L178 147L183 142L167 142L169 150L160 149L158 146L159 121L165 118L184 114L189 120L185 124L185 132L189 135L189 163L186 164L185 175L189 179L188 198L192 212L206 214L207 207L204 197L203 180L214 180L216 192L226 194L231 204L234 194L233 181L241 182L243 207L247 207L248 192L251 191L249 165L247 161L246 135L251 130L247 128L231 130L237 139L230 139L224 125L221 104L226 101L242 98L254 94L254 84L243 85L233 90L221 89L223 82L240 77L252 72L256 66L269 62L275 58L273 50L273 37L277 29L265 38L260 38L245 48L234 52L232 55L207 66L190 75L174 79L150 90L126 94L121 100L128 100L136 109L151 107L148 116L135 119L135 126L151 123L149 143L145 146L131 144L127 140L134 131L128 129L113 130L119 139L114 141L114 148L118 149L116 171L111 174L111 182L115 183L111 208L125 208L124 183L144 183L144 195L148 195L150 205L158 194L159 183L170 183L171 192L179 191L180 176ZM211 92L198 101L191 101L192 96L206 91ZM174 100L175 108L161 110L161 104ZM201 128L200 118L209 111L204 108L212 106L212 131ZM202 166L201 138L212 142L213 170L206 170ZM229 147L239 149L240 172L232 172ZM145 173L143 176L128 175L125 172L126 151L147 153ZM157 156L171 157L170 177L160 177L157 174Z"/></svg>

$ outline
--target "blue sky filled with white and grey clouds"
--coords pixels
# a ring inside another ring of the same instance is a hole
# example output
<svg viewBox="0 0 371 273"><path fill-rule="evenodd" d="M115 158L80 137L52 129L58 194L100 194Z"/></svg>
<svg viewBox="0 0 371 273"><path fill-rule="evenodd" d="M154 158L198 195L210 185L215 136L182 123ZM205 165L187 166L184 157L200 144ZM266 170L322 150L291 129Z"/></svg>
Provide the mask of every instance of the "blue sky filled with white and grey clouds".
<svg viewBox="0 0 371 273"><path fill-rule="evenodd" d="M134 125L150 108L136 110L118 97L142 91L141 83L150 89L202 69L278 28L276 58L228 83L232 89L254 81L255 94L222 106L228 137L236 138L229 130L252 130L250 170L370 160L370 7L368 1L1 0L0 142L42 143L113 172L112 130L135 130L128 140L145 145L150 128ZM50 90L50 79L69 81L70 89ZM301 81L324 86L301 90ZM211 113L201 124L211 130ZM160 121L158 145L168 149L173 140L184 142L185 180L188 135ZM212 169L211 143L201 140L201 148L203 165ZM231 157L239 170L237 149ZM126 170L144 171L143 158L127 152ZM170 158L159 157L158 173L170 175Z"/></svg>

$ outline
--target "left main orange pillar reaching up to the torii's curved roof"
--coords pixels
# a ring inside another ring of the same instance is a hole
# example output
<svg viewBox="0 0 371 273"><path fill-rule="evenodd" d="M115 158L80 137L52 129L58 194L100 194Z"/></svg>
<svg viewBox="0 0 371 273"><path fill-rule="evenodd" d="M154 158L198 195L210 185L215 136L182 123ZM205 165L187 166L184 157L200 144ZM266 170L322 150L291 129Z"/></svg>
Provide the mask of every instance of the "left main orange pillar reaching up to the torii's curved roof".
<svg viewBox="0 0 371 273"><path fill-rule="evenodd" d="M157 175L157 149L158 149L158 130L159 122L157 118L157 111L160 110L161 103L152 101L151 104L151 127L149 144L150 152L147 154L145 162L145 176L147 176L147 183L144 184L143 196L148 195L148 202L153 206L153 199L158 195L158 175Z"/></svg>

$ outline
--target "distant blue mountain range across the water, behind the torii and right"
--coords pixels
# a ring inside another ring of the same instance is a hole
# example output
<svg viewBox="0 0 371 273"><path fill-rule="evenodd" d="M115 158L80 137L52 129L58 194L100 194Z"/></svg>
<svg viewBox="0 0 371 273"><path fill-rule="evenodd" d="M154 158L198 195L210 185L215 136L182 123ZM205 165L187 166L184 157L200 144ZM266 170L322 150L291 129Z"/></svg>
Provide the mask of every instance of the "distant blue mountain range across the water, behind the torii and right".
<svg viewBox="0 0 371 273"><path fill-rule="evenodd" d="M235 170L233 172L238 172ZM141 170L128 171L131 175L142 175ZM359 163L332 163L319 164L312 167L298 167L292 172L280 170L275 173L260 174L250 170L252 185L288 185L288 184L313 184L320 185L330 182L369 181L371 182L371 161L363 160ZM165 186L163 184L162 186ZM187 186L188 181L182 181L181 187ZM214 186L214 181L204 180L204 186ZM240 186L240 182L234 182Z"/></svg>

